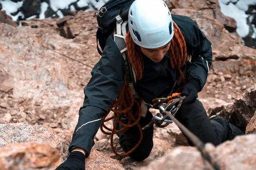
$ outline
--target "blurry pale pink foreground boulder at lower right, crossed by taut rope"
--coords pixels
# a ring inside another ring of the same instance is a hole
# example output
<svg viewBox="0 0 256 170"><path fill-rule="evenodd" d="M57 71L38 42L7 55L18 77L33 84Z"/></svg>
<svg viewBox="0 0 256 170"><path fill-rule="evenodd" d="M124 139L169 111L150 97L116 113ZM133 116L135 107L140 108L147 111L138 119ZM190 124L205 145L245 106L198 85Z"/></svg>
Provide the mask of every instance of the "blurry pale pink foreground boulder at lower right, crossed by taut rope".
<svg viewBox="0 0 256 170"><path fill-rule="evenodd" d="M217 148L207 144L208 151L215 157L223 170L256 169L256 135L236 137ZM177 147L141 170L212 170L194 147Z"/></svg>

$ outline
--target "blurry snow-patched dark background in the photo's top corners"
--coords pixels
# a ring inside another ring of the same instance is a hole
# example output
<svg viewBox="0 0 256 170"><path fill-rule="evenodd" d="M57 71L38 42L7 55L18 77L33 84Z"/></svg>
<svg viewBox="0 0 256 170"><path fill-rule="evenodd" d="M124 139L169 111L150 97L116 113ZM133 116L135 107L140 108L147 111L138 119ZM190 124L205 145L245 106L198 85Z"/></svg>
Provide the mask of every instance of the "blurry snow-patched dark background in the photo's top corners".
<svg viewBox="0 0 256 170"><path fill-rule="evenodd" d="M56 18L72 15L72 11L92 11L99 10L108 0L0 0L0 10L5 10L18 24L22 20L31 18ZM216 3L216 0L209 1ZM256 1L254 0L218 0L221 11L237 21L237 28L229 29L238 30L237 33L242 36L243 44L256 49ZM199 9L205 1L191 0L174 0L172 8L189 8L193 6ZM178 6L177 6L178 4ZM206 7L208 8L208 6ZM211 7L210 7L211 8ZM233 12L230 12L233 11ZM219 19L219 18L216 18ZM227 28L227 27L226 27Z"/></svg>

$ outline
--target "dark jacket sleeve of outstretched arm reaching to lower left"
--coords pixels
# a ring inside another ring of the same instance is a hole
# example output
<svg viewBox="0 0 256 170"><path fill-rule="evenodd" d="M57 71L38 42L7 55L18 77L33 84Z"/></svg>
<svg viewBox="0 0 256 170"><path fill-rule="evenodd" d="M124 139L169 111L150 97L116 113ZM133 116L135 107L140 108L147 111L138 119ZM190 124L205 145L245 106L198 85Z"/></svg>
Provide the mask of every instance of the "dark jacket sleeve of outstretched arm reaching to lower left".
<svg viewBox="0 0 256 170"><path fill-rule="evenodd" d="M69 152L72 147L84 149L86 157L94 145L101 118L108 112L124 84L124 60L111 36L91 74L84 88L83 106L79 110L78 124L69 146Z"/></svg>

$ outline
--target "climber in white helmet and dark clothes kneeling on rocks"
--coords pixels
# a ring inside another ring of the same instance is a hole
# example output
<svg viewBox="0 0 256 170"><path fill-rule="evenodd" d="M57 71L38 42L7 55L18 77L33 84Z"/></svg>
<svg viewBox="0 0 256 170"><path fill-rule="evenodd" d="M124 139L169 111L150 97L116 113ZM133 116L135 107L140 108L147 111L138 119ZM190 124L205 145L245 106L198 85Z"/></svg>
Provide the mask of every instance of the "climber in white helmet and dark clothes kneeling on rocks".
<svg viewBox="0 0 256 170"><path fill-rule="evenodd" d="M209 119L197 93L206 83L212 63L211 42L189 17L171 15L163 0L135 0L128 14L129 32L126 47L137 82L134 88L145 102L164 97L175 91L186 96L176 118L204 143L218 145L236 134L228 121L220 116ZM113 102L126 101L129 90L124 80L125 62L109 36L101 59L93 68L92 77L84 88L84 102L79 121L69 146L70 155L57 170L85 170L85 158L94 145L94 136ZM177 79L183 81L177 85ZM123 98L122 98L123 97ZM124 99L124 100L122 100ZM138 105L132 110L136 112ZM152 119L146 110L138 123L144 127ZM125 121L125 114L121 114ZM153 147L153 126L143 131L138 148L129 156L142 161ZM125 152L139 140L138 127L120 132L119 143ZM190 143L190 142L189 142ZM191 143L190 143L191 144Z"/></svg>

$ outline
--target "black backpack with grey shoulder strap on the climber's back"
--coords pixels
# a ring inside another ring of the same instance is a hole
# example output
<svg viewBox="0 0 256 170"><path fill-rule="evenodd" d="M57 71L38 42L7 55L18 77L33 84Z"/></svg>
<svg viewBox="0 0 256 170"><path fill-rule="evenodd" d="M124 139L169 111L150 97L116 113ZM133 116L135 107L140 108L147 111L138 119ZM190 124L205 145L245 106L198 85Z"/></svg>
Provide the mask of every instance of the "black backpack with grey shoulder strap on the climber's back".
<svg viewBox="0 0 256 170"><path fill-rule="evenodd" d="M125 83L131 86L136 83L136 76L130 64L126 50L126 29L122 28L126 28L129 8L134 1L135 0L109 0L99 9L98 12L94 14L94 17L97 17L98 21L98 30L96 33L98 53L100 55L102 54L102 51L106 45L107 38L116 30L114 33L114 40L124 58L126 65ZM98 44L101 48L101 51L98 47Z"/></svg>

